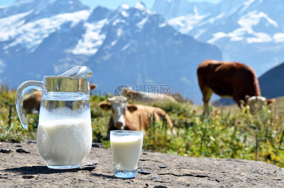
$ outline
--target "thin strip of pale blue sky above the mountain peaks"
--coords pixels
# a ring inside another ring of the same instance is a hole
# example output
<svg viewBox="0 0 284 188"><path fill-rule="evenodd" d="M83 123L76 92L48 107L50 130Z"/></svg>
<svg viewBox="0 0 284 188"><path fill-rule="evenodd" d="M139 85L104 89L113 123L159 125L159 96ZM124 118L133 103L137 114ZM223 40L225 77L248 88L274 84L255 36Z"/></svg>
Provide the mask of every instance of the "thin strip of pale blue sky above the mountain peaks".
<svg viewBox="0 0 284 188"><path fill-rule="evenodd" d="M45 0L39 0L39 1L45 1ZM107 7L109 9L116 9L119 5L121 5L122 3L127 3L128 5L130 5L131 7L135 5L135 3L137 2L137 0L80 0L82 2L83 5L87 5L90 8L95 8L97 6L103 6L103 7ZM220 1L220 0L187 0L190 2L216 2L216 1ZM0 6L1 5L9 5L14 3L15 0L0 0ZM146 7L148 9L151 9L155 0L141 0L141 2L143 2Z"/></svg>

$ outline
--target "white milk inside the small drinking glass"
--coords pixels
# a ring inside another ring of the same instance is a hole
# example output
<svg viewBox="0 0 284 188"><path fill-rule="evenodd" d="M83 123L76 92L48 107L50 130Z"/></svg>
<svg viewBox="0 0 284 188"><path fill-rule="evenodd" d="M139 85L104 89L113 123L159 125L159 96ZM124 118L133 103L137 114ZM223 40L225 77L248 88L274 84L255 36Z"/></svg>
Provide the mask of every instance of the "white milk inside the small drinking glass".
<svg viewBox="0 0 284 188"><path fill-rule="evenodd" d="M143 136L111 136L110 140L114 168L118 170L137 169Z"/></svg>

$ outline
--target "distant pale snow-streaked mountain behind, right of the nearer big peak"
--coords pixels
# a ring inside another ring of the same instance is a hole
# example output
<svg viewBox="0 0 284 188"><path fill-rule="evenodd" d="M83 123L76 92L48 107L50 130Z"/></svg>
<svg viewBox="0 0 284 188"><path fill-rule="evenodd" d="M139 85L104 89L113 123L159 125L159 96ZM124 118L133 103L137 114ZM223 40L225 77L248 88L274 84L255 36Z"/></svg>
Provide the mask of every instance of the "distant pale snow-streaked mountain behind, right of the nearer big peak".
<svg viewBox="0 0 284 188"><path fill-rule="evenodd" d="M223 59L252 66L260 76L284 61L281 0L221 0L190 3L156 0L153 11L183 34L218 46Z"/></svg>

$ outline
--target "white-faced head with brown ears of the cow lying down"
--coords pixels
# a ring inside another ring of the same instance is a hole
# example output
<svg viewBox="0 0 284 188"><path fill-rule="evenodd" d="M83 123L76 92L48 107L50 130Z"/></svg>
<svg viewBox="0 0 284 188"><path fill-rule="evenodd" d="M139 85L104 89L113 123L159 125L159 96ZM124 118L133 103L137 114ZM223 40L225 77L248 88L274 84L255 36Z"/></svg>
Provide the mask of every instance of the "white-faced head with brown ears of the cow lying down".
<svg viewBox="0 0 284 188"><path fill-rule="evenodd" d="M124 130L125 129L125 112L129 110L133 112L137 110L136 105L130 105L127 103L119 102L119 98L107 98L108 102L101 102L99 104L100 108L105 110L112 109L112 118L114 122L114 126L118 129Z"/></svg>

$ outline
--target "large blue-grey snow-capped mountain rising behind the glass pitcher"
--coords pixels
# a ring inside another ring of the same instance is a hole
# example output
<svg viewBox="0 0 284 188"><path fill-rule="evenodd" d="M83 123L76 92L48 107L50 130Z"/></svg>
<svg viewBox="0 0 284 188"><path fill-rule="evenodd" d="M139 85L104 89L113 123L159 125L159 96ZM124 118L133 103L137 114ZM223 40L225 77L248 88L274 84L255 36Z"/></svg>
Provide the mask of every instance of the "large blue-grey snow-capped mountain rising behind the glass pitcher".
<svg viewBox="0 0 284 188"><path fill-rule="evenodd" d="M19 0L0 7L0 48L0 81L11 87L86 65L101 92L167 84L196 101L198 64L222 58L216 46L181 34L139 2L91 10L77 0Z"/></svg>

